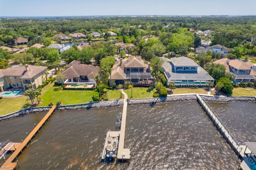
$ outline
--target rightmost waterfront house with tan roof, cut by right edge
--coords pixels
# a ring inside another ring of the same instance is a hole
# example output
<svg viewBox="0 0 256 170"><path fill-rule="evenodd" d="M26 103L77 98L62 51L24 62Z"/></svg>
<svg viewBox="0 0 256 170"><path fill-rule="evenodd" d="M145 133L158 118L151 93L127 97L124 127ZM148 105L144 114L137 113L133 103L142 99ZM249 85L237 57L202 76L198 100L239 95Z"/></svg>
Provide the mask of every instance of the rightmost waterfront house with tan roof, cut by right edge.
<svg viewBox="0 0 256 170"><path fill-rule="evenodd" d="M236 83L252 82L256 78L256 71L252 69L252 62L223 58L216 60L214 63L225 66L226 72L229 72L235 76L233 81Z"/></svg>

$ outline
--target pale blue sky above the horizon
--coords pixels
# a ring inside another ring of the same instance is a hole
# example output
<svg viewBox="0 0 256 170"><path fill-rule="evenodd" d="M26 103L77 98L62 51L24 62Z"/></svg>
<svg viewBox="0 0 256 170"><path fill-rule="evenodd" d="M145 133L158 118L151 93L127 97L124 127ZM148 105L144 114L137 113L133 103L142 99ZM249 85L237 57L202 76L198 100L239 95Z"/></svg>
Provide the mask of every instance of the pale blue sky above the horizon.
<svg viewBox="0 0 256 170"><path fill-rule="evenodd" d="M0 0L1 17L256 15L256 0Z"/></svg>

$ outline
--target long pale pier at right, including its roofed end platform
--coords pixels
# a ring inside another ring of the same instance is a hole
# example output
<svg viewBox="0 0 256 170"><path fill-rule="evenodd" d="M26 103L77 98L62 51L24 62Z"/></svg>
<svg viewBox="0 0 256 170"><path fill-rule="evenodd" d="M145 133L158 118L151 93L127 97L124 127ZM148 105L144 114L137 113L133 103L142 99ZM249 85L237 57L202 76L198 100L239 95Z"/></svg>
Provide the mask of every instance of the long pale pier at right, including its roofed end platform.
<svg viewBox="0 0 256 170"><path fill-rule="evenodd" d="M251 153L251 150L246 147L246 145L240 145L238 141L236 141L235 137L233 137L230 132L228 131L227 127L223 125L221 120L218 118L216 114L214 114L213 110L204 102L204 100L201 98L199 94L196 94L196 98L198 103L202 106L206 114L209 116L209 118L212 120L213 124L221 135L224 137L224 139L229 143L230 147L233 148L233 150L236 152L238 156L240 156L243 159L242 166L240 167L243 170L250 170L249 164L246 163L247 157L245 156L245 153Z"/></svg>

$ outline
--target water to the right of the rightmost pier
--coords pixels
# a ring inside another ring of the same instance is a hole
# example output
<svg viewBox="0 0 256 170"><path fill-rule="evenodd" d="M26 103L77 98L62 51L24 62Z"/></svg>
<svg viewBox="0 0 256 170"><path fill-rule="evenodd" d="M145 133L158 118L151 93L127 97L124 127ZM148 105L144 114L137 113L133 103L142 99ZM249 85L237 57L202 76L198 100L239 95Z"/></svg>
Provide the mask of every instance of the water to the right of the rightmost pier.
<svg viewBox="0 0 256 170"><path fill-rule="evenodd" d="M243 144L246 141L256 141L255 102L210 102L209 105L238 142Z"/></svg>

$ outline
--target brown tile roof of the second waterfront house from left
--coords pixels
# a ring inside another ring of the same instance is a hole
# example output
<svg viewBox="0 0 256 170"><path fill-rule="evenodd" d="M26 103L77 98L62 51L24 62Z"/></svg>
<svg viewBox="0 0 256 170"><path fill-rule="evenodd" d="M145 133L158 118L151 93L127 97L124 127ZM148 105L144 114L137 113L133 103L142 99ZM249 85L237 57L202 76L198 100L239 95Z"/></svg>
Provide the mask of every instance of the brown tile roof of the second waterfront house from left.
<svg viewBox="0 0 256 170"><path fill-rule="evenodd" d="M74 77L87 76L88 78L94 78L99 72L99 67L95 67L89 64L81 64L79 61L74 60L68 64L65 71L62 72L66 78L71 79Z"/></svg>

